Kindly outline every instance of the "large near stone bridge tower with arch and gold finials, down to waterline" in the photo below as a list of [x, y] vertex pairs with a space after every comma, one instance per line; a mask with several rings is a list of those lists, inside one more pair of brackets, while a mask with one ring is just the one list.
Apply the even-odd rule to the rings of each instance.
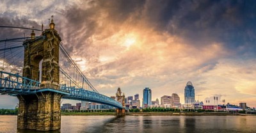
[[45, 91], [36, 95], [17, 96], [19, 98], [18, 129], [60, 129], [62, 95], [54, 90], [60, 90], [58, 63], [61, 38], [54, 26], [52, 19], [49, 29], [45, 29], [42, 36], [35, 38], [35, 33], [32, 31], [31, 39], [23, 43], [25, 48], [23, 77], [40, 81], [40, 89]]

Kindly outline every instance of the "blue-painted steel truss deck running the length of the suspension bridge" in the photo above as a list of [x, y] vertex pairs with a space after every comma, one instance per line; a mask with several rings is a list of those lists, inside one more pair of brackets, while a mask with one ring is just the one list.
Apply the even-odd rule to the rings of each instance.
[[72, 100], [86, 100], [106, 104], [118, 109], [122, 109], [122, 104], [110, 97], [97, 93], [95, 91], [84, 90], [83, 88], [60, 86], [60, 90], [51, 88], [40, 88], [40, 82], [22, 77], [18, 74], [10, 74], [0, 71], [0, 94], [1, 95], [31, 95], [42, 91], [52, 91], [63, 94], [63, 98]]

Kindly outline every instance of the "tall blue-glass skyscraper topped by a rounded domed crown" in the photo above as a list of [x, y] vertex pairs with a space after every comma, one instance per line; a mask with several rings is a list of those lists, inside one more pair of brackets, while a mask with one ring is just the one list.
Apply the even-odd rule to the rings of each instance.
[[193, 87], [192, 82], [188, 81], [184, 90], [184, 100], [185, 104], [194, 103], [195, 102], [195, 89]]

